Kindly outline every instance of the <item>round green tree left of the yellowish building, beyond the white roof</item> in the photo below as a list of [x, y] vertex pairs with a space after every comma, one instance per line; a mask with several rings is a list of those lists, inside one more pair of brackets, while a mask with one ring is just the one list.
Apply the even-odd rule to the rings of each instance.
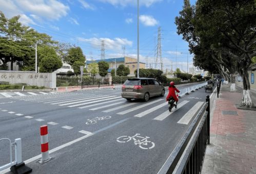
[[68, 51], [67, 56], [64, 57], [64, 61], [73, 65], [74, 62], [85, 62], [85, 56], [83, 55], [83, 51], [80, 47], [71, 47]]

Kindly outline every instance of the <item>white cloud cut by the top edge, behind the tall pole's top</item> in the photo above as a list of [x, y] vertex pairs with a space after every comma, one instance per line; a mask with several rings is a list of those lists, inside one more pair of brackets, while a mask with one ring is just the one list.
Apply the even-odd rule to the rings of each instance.
[[[113, 6], [122, 6], [126, 7], [128, 5], [136, 6], [137, 1], [134, 0], [98, 0], [103, 3], [109, 3]], [[149, 7], [154, 3], [161, 2], [163, 0], [140, 0], [140, 6], [146, 6]]]

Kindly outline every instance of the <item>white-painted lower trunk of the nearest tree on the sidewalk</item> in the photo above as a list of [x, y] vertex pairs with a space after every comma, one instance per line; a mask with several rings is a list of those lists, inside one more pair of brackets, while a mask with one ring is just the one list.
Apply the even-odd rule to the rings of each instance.
[[250, 82], [247, 70], [243, 72], [243, 100], [241, 105], [249, 108], [254, 107], [254, 104], [251, 101]]

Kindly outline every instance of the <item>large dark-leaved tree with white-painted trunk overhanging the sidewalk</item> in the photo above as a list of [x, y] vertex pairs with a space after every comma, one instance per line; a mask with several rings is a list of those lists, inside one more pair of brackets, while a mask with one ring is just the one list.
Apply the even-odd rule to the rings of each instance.
[[240, 73], [244, 88], [241, 105], [248, 107], [253, 107], [247, 70], [256, 56], [255, 6], [254, 0], [198, 0], [195, 6], [185, 0], [175, 18], [178, 34], [195, 55], [195, 65], [226, 77], [235, 70]]

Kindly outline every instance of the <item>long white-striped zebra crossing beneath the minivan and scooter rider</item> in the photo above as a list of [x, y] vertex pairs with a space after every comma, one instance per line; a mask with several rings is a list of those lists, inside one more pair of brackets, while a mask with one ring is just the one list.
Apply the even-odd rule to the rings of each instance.
[[[120, 95], [96, 94], [96, 93], [48, 93], [43, 95], [20, 95], [12, 97], [16, 100], [37, 102], [48, 105], [84, 109], [90, 111], [100, 111], [103, 113], [115, 113], [117, 115], [132, 114], [134, 117], [154, 116], [153, 120], [162, 121], [185, 107], [190, 101], [185, 100], [179, 103], [178, 108], [169, 112], [165, 98], [155, 98], [149, 102], [127, 102]], [[188, 125], [193, 115], [202, 107], [204, 102], [197, 102], [178, 123]], [[149, 108], [150, 107], [150, 108]], [[188, 109], [187, 109], [188, 110]], [[155, 112], [157, 111], [157, 112]], [[161, 111], [162, 113], [158, 112]], [[139, 112], [139, 113], [138, 113]], [[133, 114], [135, 113], [135, 114]]]

